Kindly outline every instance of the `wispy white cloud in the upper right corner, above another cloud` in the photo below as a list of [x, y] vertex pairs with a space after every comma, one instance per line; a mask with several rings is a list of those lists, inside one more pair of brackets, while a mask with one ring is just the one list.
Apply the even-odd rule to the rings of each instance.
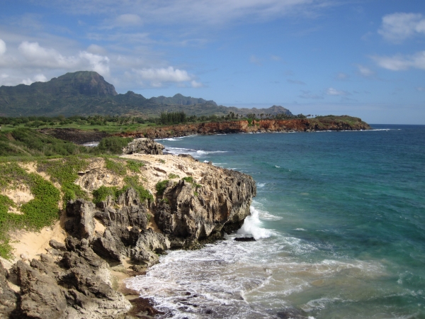
[[392, 13], [382, 18], [378, 33], [392, 43], [402, 43], [414, 35], [425, 35], [425, 18], [421, 13]]

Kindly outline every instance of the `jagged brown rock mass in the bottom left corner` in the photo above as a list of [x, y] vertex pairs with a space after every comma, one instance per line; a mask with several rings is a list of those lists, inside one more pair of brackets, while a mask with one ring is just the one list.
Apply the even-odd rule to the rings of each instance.
[[[101, 319], [130, 309], [129, 301], [111, 287], [108, 264], [87, 240], [69, 237], [67, 249], [59, 262], [41, 254], [29, 265], [22, 261], [13, 265], [11, 273], [21, 291], [16, 308], [1, 318]], [[0, 303], [7, 301], [14, 306], [11, 293]]]

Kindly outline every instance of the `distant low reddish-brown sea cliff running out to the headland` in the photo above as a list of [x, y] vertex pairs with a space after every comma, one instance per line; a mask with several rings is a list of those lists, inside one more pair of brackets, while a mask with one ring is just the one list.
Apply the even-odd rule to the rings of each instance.
[[145, 128], [134, 133], [118, 134], [147, 138], [172, 138], [187, 135], [212, 135], [222, 133], [273, 133], [273, 132], [314, 132], [319, 130], [368, 130], [370, 126], [360, 118], [349, 116], [293, 119], [293, 120], [253, 120], [225, 121], [212, 123], [188, 123], [162, 128]]

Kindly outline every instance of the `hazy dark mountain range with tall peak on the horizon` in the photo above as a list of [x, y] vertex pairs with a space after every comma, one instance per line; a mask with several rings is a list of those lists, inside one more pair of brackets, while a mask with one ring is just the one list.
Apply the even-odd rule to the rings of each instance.
[[128, 91], [118, 94], [112, 84], [90, 71], [67, 73], [48, 82], [0, 86], [0, 116], [134, 115], [159, 116], [161, 112], [184, 111], [188, 116], [290, 114], [282, 106], [235, 108], [217, 106], [215, 101], [176, 94], [146, 99]]

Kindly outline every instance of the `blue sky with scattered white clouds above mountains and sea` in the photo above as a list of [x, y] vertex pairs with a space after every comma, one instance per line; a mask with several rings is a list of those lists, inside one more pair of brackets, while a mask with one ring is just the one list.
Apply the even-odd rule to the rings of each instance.
[[118, 93], [425, 124], [424, 0], [1, 0], [0, 85], [96, 71]]

